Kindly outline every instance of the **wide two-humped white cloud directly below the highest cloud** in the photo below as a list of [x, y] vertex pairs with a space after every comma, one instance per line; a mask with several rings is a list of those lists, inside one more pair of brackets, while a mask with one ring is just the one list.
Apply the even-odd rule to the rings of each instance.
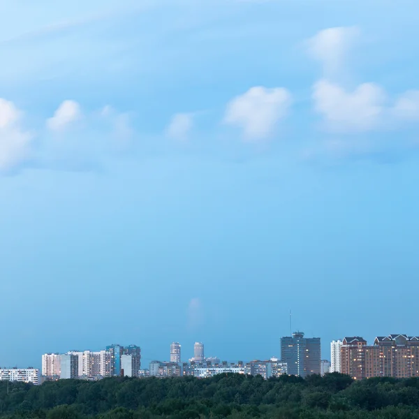
[[314, 108], [337, 131], [367, 131], [376, 128], [383, 115], [385, 92], [374, 83], [346, 91], [339, 84], [319, 80], [313, 89]]

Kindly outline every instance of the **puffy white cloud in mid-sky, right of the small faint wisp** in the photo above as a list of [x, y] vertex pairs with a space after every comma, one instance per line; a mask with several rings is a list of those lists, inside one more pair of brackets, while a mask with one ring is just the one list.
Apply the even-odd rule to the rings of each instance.
[[251, 87], [227, 105], [224, 122], [242, 128], [246, 140], [260, 140], [272, 134], [291, 104], [288, 90]]

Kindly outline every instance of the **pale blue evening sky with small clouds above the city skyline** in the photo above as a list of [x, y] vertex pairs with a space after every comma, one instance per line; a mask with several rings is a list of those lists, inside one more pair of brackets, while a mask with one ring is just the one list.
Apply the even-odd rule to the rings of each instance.
[[418, 335], [418, 13], [0, 0], [0, 365]]

